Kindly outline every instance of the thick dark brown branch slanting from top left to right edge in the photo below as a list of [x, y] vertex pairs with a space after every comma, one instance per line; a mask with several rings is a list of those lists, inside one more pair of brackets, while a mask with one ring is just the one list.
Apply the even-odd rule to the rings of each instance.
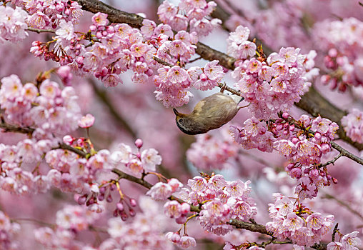
[[[126, 23], [134, 27], [142, 26], [142, 21], [144, 18], [138, 16], [136, 14], [127, 13], [125, 11], [120, 11], [111, 7], [107, 4], [104, 4], [100, 1], [96, 0], [76, 0], [82, 6], [82, 9], [85, 11], [90, 11], [92, 13], [103, 12], [109, 15], [109, 21], [113, 23]], [[227, 16], [227, 15], [224, 15]], [[222, 19], [222, 21], [225, 21]], [[224, 54], [220, 51], [212, 49], [211, 47], [198, 42], [197, 44], [197, 54], [202, 56], [203, 59], [213, 61], [219, 60], [219, 64], [224, 66], [227, 69], [234, 70], [234, 59], [227, 54]], [[228, 91], [228, 89], [227, 89]], [[237, 90], [235, 90], [237, 91]], [[296, 104], [300, 109], [307, 111], [312, 116], [323, 116], [327, 119], [335, 121], [339, 127], [342, 126], [340, 120], [344, 115], [347, 114], [347, 111], [343, 111], [333, 104], [331, 104], [327, 99], [325, 99], [322, 95], [320, 95], [313, 87], [309, 89], [309, 91], [302, 96], [302, 99], [299, 103]], [[349, 144], [352, 144], [359, 151], [363, 150], [363, 144], [359, 144], [357, 142], [349, 139], [347, 134], [343, 131], [343, 129], [339, 129], [338, 131], [339, 138], [347, 141]]]

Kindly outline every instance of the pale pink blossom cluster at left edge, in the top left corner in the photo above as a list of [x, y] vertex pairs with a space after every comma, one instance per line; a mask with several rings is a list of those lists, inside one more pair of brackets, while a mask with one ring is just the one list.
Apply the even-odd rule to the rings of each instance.
[[19, 7], [0, 6], [0, 43], [6, 41], [21, 41], [28, 36], [26, 19], [28, 14]]

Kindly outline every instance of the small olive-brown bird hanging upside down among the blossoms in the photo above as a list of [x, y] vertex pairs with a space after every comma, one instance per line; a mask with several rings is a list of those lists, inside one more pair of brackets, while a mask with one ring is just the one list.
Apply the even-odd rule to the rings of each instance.
[[204, 134], [218, 129], [236, 116], [242, 96], [229, 96], [223, 91], [200, 100], [191, 114], [179, 113], [175, 108], [176, 126], [185, 134]]

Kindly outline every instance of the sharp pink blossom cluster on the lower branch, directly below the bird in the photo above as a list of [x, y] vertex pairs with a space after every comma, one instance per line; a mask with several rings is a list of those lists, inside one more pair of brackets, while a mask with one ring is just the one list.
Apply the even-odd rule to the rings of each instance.
[[224, 235], [233, 229], [227, 224], [230, 219], [247, 221], [257, 214], [249, 183], [226, 181], [220, 174], [195, 176], [188, 181], [190, 189], [183, 188], [179, 195], [189, 204], [203, 204], [198, 219], [204, 230]]

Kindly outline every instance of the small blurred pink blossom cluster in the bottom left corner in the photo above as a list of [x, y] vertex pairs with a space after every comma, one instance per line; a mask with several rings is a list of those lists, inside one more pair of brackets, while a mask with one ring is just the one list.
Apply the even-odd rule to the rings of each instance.
[[0, 249], [19, 249], [18, 242], [14, 240], [14, 236], [19, 230], [20, 225], [11, 222], [9, 217], [3, 211], [0, 211]]

